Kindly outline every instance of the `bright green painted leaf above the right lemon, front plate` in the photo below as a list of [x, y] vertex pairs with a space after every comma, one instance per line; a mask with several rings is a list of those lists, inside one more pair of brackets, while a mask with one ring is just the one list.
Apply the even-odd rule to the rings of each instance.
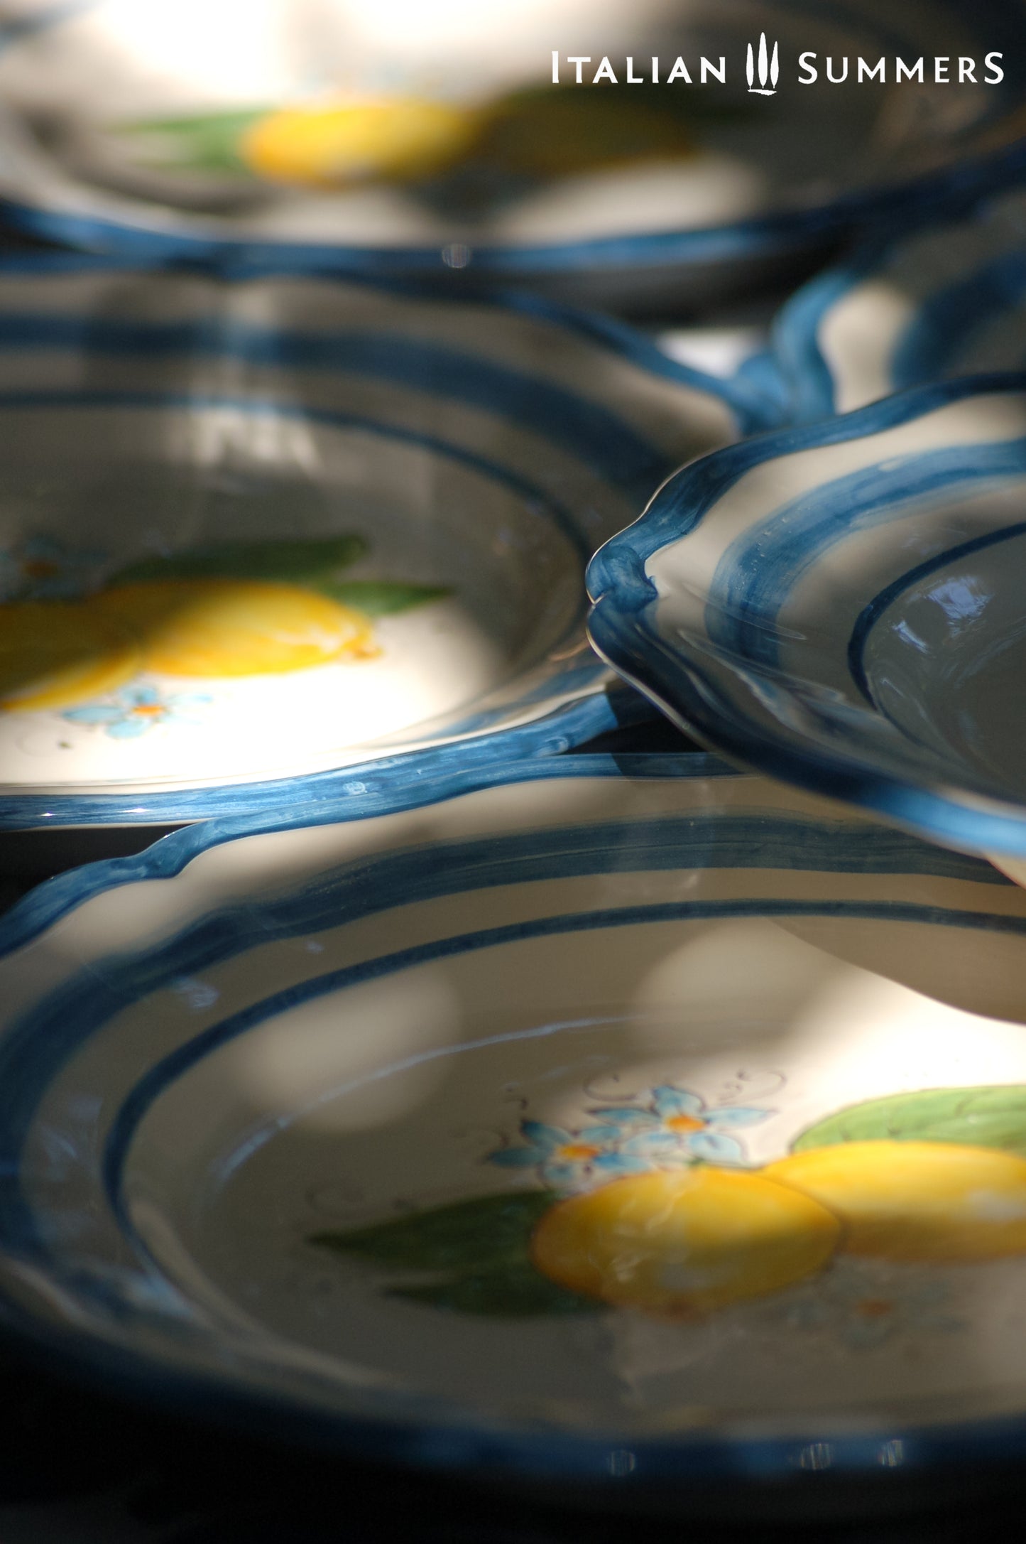
[[883, 1138], [964, 1143], [1026, 1156], [1026, 1085], [921, 1089], [867, 1099], [810, 1126], [791, 1143], [791, 1152]]

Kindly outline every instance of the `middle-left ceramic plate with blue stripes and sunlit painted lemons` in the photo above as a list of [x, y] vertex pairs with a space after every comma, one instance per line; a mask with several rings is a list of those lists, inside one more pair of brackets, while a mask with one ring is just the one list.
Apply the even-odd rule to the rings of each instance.
[[546, 303], [0, 273], [0, 823], [614, 727], [585, 560], [750, 397]]

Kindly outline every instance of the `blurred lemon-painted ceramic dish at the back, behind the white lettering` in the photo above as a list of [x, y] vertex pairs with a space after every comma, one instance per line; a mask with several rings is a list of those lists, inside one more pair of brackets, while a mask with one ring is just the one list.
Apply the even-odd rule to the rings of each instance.
[[[480, 19], [443, 0], [429, 29], [406, 3], [353, 0], [8, 11], [8, 218], [94, 250], [256, 245], [665, 315], [779, 281], [852, 224], [1021, 161], [1020, 0], [697, 0], [685, 15], [562, 0]], [[626, 56], [642, 69], [629, 90]], [[879, 56], [886, 82], [859, 82], [858, 59]], [[921, 56], [941, 79], [896, 83], [895, 60]], [[588, 91], [603, 57], [617, 86]], [[671, 80], [677, 57], [687, 79]], [[705, 88], [702, 57], [722, 74]], [[827, 59], [847, 79], [827, 82]], [[944, 79], [961, 59], [975, 85]]]

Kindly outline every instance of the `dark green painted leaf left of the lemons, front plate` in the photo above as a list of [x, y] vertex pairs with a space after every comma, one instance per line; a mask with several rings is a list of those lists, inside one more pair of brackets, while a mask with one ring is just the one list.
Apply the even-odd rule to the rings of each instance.
[[373, 1227], [315, 1234], [310, 1243], [386, 1271], [435, 1275], [386, 1288], [409, 1303], [505, 1319], [596, 1312], [602, 1305], [563, 1291], [531, 1265], [531, 1234], [554, 1200], [546, 1190], [484, 1195]]

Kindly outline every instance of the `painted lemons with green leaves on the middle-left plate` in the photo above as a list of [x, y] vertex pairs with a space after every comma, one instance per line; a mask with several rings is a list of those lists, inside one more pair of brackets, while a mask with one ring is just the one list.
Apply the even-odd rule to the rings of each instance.
[[[355, 536], [222, 542], [143, 559], [74, 599], [15, 594], [0, 604], [0, 709], [105, 723], [100, 709], [79, 709], [139, 676], [228, 679], [373, 659], [375, 618], [447, 591], [344, 576], [364, 553]], [[143, 715], [153, 689], [133, 693]], [[153, 724], [167, 716], [150, 713]]]

